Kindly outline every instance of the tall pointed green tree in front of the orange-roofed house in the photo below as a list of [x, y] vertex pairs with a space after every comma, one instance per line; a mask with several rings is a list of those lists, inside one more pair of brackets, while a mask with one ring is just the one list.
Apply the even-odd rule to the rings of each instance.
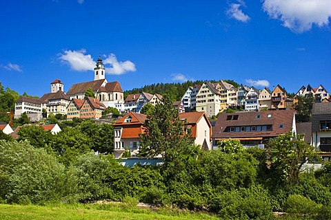
[[163, 97], [163, 104], [158, 103], [154, 111], [147, 115], [145, 132], [141, 134], [139, 156], [166, 157], [183, 138], [184, 122], [179, 119], [179, 112], [172, 106], [169, 96]]

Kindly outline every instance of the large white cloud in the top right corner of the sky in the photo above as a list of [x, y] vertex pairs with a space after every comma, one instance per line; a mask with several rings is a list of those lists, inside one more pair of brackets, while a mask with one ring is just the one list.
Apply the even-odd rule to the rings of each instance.
[[263, 10], [272, 19], [279, 19], [292, 32], [302, 33], [329, 24], [331, 0], [264, 0]]

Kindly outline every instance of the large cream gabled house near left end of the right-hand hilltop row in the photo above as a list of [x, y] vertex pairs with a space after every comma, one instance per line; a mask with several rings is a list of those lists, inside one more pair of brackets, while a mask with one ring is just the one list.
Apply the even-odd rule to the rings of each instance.
[[220, 97], [221, 93], [214, 87], [214, 84], [209, 82], [203, 83], [195, 97], [196, 110], [204, 111], [208, 115], [208, 117], [212, 117], [212, 115], [217, 115], [219, 111], [221, 111]]

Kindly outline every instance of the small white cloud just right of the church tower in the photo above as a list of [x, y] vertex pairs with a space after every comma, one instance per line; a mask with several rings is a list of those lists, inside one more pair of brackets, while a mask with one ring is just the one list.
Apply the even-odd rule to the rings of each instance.
[[115, 54], [110, 54], [106, 60], [103, 61], [104, 64], [110, 64], [111, 67], [106, 68], [106, 73], [120, 75], [126, 72], [137, 71], [136, 65], [131, 61], [117, 61]]

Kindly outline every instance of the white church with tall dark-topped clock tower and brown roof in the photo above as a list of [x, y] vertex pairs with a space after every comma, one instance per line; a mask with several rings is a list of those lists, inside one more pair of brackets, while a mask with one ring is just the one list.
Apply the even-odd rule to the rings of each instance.
[[86, 91], [91, 88], [97, 98], [106, 107], [114, 107], [122, 111], [123, 89], [118, 81], [108, 83], [105, 78], [105, 68], [102, 59], [99, 57], [96, 67], [94, 67], [94, 80], [86, 83], [72, 85], [67, 95], [72, 98], [84, 99]]

